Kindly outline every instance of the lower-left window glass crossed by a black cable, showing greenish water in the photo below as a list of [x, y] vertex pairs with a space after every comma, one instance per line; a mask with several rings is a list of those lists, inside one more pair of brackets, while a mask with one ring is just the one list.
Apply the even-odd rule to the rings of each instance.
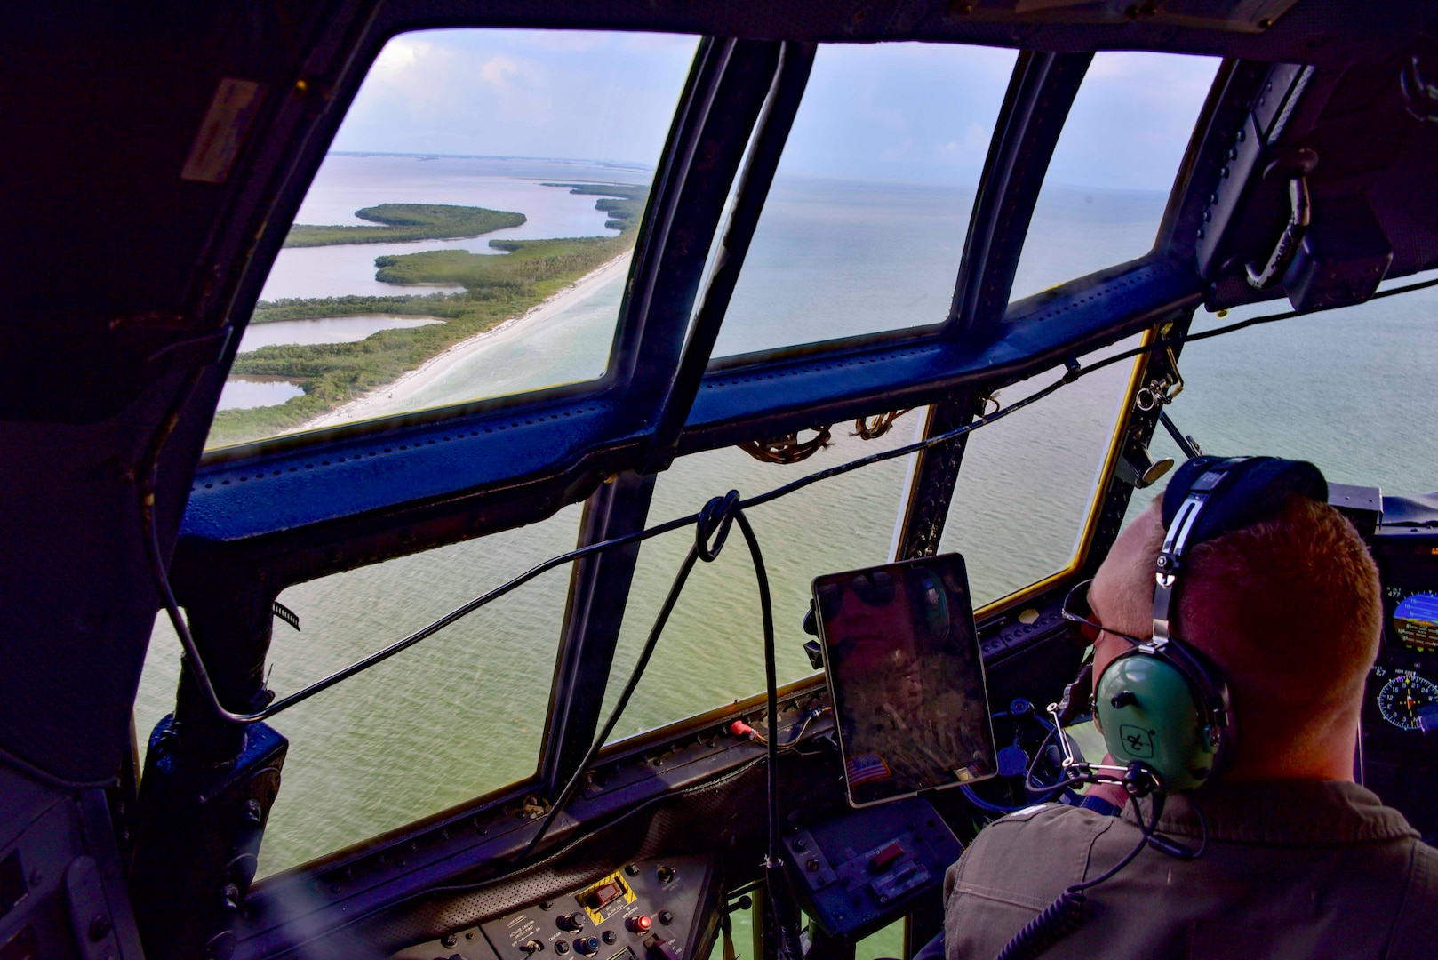
[[[285, 590], [269, 685], [293, 692], [572, 550], [578, 505], [549, 520]], [[533, 774], [568, 567], [269, 721], [289, 737], [260, 874], [272, 874]], [[174, 710], [180, 642], [161, 615], [135, 702], [141, 741]]]

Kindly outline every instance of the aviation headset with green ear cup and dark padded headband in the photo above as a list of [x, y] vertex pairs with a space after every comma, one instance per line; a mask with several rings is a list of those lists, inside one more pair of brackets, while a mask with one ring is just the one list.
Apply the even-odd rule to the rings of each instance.
[[1093, 704], [1109, 753], [1158, 789], [1201, 787], [1232, 761], [1238, 741], [1222, 671], [1171, 630], [1185, 558], [1198, 544], [1277, 512], [1288, 494], [1327, 502], [1327, 481], [1306, 461], [1196, 456], [1163, 494], [1152, 636], [1104, 668]]

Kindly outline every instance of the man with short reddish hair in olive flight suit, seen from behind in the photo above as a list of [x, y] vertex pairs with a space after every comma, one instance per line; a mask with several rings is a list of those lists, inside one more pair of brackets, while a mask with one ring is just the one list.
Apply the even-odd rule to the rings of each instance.
[[[1159, 502], [1119, 535], [1089, 589], [1094, 678], [1153, 633]], [[1288, 494], [1198, 544], [1176, 599], [1172, 635], [1222, 671], [1238, 731], [1228, 769], [1168, 796], [1158, 822], [1171, 852], [1202, 853], [1142, 848], [1084, 891], [1081, 921], [1041, 956], [1435, 956], [1438, 851], [1353, 782], [1382, 629], [1378, 570], [1357, 533], [1327, 504]], [[1044, 805], [985, 828], [945, 881], [948, 960], [992, 960], [1066, 888], [1119, 864], [1152, 803], [1120, 816]]]

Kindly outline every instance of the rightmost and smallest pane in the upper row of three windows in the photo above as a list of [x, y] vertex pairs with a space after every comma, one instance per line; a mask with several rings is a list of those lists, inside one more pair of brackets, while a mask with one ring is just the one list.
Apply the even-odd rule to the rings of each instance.
[[1014, 299], [1143, 256], [1219, 60], [1096, 53], [1058, 135]]

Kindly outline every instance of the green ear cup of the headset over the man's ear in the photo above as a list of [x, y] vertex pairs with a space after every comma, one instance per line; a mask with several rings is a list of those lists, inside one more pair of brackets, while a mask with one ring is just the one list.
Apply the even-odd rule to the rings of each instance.
[[1114, 658], [1094, 687], [1094, 714], [1114, 760], [1143, 763], [1166, 790], [1192, 790], [1214, 770], [1206, 715], [1182, 671], [1160, 656]]

